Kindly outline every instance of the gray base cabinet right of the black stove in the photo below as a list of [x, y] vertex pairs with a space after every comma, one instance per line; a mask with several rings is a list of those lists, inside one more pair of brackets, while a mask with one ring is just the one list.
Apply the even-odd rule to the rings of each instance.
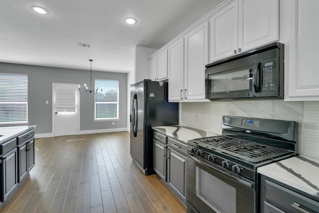
[[261, 176], [261, 213], [319, 213], [318, 200], [276, 180]]

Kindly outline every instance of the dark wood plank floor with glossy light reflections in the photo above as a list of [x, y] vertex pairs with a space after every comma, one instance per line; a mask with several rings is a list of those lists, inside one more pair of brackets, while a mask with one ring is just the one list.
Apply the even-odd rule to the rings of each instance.
[[35, 139], [35, 166], [1, 213], [185, 213], [130, 156], [128, 132]]

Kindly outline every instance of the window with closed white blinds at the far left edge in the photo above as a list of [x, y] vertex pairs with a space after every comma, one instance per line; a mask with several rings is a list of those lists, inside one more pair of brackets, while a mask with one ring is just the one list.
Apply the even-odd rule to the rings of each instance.
[[0, 124], [28, 121], [28, 76], [0, 73]]

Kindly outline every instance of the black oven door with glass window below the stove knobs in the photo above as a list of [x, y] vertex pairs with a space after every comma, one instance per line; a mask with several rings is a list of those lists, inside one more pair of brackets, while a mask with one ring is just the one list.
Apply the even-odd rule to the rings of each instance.
[[187, 202], [199, 213], [256, 212], [256, 183], [187, 154]]

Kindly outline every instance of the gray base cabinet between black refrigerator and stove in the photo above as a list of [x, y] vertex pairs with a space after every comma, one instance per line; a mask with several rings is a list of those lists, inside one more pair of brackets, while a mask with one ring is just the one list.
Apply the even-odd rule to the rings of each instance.
[[154, 131], [153, 169], [186, 204], [187, 145]]

